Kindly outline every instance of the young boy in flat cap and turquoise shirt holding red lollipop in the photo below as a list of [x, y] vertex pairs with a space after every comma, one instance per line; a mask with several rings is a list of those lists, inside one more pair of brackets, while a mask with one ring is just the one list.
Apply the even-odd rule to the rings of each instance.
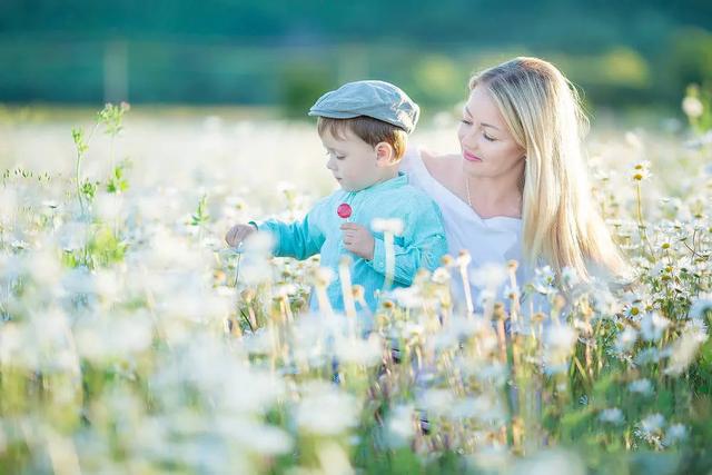
[[[396, 287], [409, 286], [419, 268], [437, 268], [447, 251], [437, 205], [398, 172], [418, 113], [405, 92], [383, 81], [349, 82], [322, 96], [309, 116], [318, 117], [319, 137], [328, 154], [326, 167], [342, 189], [319, 200], [300, 222], [270, 219], [237, 225], [226, 241], [237, 246], [258, 229], [268, 231], [276, 238], [275, 256], [306, 259], [320, 253], [320, 265], [335, 276], [342, 255], [350, 255], [352, 281], [364, 287], [365, 300], [374, 310], [375, 293], [383, 289], [387, 271], [384, 232], [372, 229], [374, 219], [397, 218], [404, 225], [394, 239]], [[335, 310], [344, 309], [338, 277], [327, 295]], [[315, 298], [312, 308], [316, 308]]]

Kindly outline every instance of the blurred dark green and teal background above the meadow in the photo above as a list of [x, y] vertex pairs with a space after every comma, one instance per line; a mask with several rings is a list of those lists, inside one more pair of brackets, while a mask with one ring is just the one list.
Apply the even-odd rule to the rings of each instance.
[[378, 78], [451, 108], [478, 68], [554, 61], [590, 107], [712, 82], [712, 1], [0, 0], [0, 102], [249, 105], [289, 117]]

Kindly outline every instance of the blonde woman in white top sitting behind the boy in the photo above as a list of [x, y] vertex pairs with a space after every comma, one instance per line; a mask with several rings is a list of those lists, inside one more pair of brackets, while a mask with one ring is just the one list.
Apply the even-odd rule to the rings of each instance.
[[515, 58], [469, 80], [459, 154], [408, 150], [403, 168], [438, 202], [449, 253], [467, 249], [471, 269], [515, 259], [520, 285], [541, 265], [621, 278], [626, 264], [591, 199], [586, 126], [553, 65]]

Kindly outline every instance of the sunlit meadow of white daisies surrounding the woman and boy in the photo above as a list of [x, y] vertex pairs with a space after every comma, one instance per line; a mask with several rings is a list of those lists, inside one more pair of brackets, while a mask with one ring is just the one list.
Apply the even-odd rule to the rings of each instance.
[[[459, 255], [358, 317], [307, 311], [333, 278], [318, 259], [222, 240], [334, 189], [312, 125], [0, 109], [0, 472], [709, 473], [701, 96], [686, 123], [586, 144], [634, 283], [544, 268], [520, 288], [508, 263], [465, 276], [473, 313], [451, 297]], [[455, 128], [441, 113], [412, 140], [454, 150]]]

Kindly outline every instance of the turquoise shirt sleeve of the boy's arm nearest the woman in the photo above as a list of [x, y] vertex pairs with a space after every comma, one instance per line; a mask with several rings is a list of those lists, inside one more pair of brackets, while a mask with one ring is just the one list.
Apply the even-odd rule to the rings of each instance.
[[[412, 212], [404, 224], [403, 246], [393, 245], [395, 255], [394, 281], [409, 286], [421, 268], [435, 270], [447, 254], [447, 240], [443, 217], [437, 206], [428, 201]], [[368, 264], [379, 274], [386, 275], [386, 244], [375, 238], [374, 258]]]

